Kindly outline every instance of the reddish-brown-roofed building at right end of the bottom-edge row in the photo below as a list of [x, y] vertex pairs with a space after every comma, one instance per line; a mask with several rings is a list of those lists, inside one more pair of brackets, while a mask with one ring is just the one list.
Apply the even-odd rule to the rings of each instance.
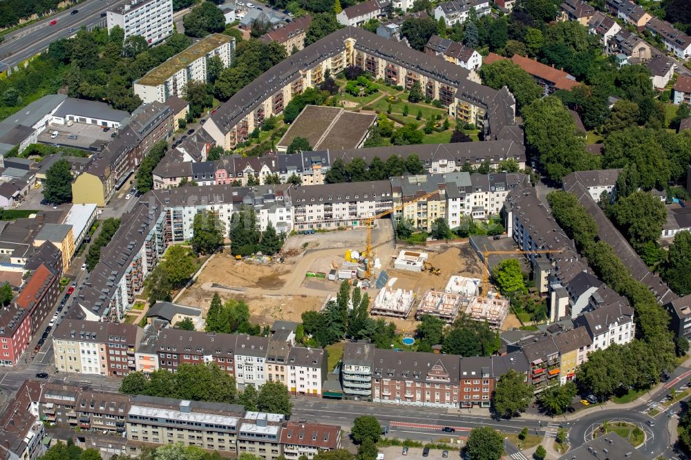
[[312, 459], [319, 452], [341, 448], [341, 429], [334, 425], [289, 421], [281, 430], [281, 445], [287, 460], [297, 460], [303, 455]]

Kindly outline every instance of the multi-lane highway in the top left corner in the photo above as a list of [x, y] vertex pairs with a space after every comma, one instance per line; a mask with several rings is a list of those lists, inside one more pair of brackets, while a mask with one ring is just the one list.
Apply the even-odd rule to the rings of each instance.
[[[41, 19], [31, 26], [8, 33], [0, 44], [0, 71], [14, 68], [21, 61], [38, 55], [46, 50], [52, 41], [75, 35], [79, 28], [105, 27], [106, 18], [101, 17], [101, 13], [122, 3], [127, 1], [88, 0], [57, 15]], [[73, 15], [73, 10], [78, 12]], [[51, 26], [52, 21], [57, 22]]]

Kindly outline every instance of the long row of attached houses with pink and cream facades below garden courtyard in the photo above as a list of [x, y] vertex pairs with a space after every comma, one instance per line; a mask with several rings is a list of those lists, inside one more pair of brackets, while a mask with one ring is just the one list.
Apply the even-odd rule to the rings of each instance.
[[[213, 168], [216, 185], [245, 186], [250, 177], [259, 184], [265, 184], [269, 176], [278, 175], [285, 183], [296, 175], [301, 185], [323, 185], [326, 173], [332, 162], [340, 159], [350, 162], [361, 158], [370, 164], [375, 157], [386, 162], [392, 155], [399, 155], [406, 160], [410, 155], [417, 155], [428, 173], [446, 173], [460, 171], [464, 168], [481, 166], [484, 162], [497, 169], [505, 160], [515, 160], [519, 169], [525, 167], [525, 150], [520, 142], [514, 140], [488, 140], [485, 142], [467, 142], [456, 144], [419, 144], [413, 146], [387, 146], [373, 148], [347, 148], [343, 150], [326, 149], [324, 151], [299, 152], [292, 155], [285, 153], [267, 154], [261, 157], [243, 157], [225, 155], [215, 162], [206, 162], [202, 169]], [[178, 161], [178, 157], [166, 157], [153, 170], [153, 188], [171, 189], [179, 186], [182, 180], [199, 181], [193, 177], [193, 162]], [[200, 178], [199, 178], [200, 179]], [[208, 182], [205, 182], [205, 184]]]

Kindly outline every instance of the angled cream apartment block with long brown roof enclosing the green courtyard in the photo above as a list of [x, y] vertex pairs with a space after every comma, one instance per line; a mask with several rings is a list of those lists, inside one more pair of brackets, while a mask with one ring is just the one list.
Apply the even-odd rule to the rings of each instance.
[[[489, 8], [489, 3], [485, 4]], [[233, 148], [247, 140], [263, 119], [279, 115], [295, 94], [319, 84], [326, 70], [334, 74], [346, 66], [359, 66], [377, 79], [406, 88], [419, 82], [426, 96], [439, 99], [453, 116], [456, 99], [462, 100], [474, 107], [468, 108], [473, 117], [468, 114], [464, 119], [484, 126], [486, 131], [493, 126], [496, 135], [502, 127], [515, 125], [515, 102], [510, 102], [510, 93], [472, 82], [468, 70], [442, 59], [428, 59], [401, 42], [347, 27], [296, 52], [238, 91], [209, 117], [203, 131], [217, 145]], [[281, 104], [274, 104], [276, 98]], [[500, 109], [500, 116], [495, 109]]]

